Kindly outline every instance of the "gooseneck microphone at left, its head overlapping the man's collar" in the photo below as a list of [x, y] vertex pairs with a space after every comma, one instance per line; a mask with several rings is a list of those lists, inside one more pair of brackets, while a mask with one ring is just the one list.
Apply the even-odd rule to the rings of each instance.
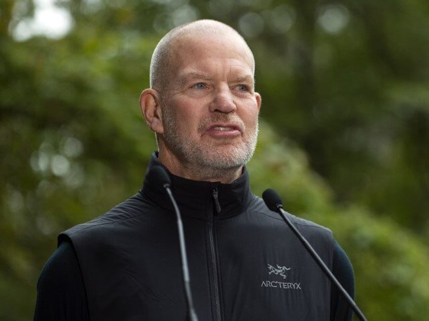
[[153, 167], [148, 173], [148, 175], [150, 175], [149, 178], [152, 179], [153, 182], [156, 182], [155, 186], [162, 186], [162, 188], [167, 192], [171, 200], [171, 203], [173, 203], [173, 206], [176, 212], [176, 218], [177, 218], [177, 229], [179, 231], [180, 255], [182, 258], [183, 283], [185, 286], [186, 303], [188, 305], [188, 312], [189, 312], [189, 317], [191, 321], [198, 321], [197, 314], [195, 313], [195, 309], [194, 309], [194, 302], [192, 300], [191, 280], [189, 277], [189, 265], [188, 265], [187, 255], [186, 255], [185, 233], [183, 231], [183, 224], [182, 224], [182, 218], [180, 215], [179, 206], [177, 205], [176, 199], [174, 198], [173, 193], [171, 192], [171, 189], [170, 189], [170, 186], [171, 186], [170, 177], [168, 176], [167, 172], [162, 166]]

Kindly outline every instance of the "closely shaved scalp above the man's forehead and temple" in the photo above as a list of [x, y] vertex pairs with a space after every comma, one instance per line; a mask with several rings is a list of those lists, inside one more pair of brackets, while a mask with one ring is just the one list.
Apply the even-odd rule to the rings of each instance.
[[158, 42], [150, 64], [150, 87], [162, 92], [168, 85], [169, 78], [175, 74], [175, 58], [182, 42], [187, 39], [208, 41], [225, 35], [232, 36], [236, 41], [242, 42], [243, 50], [247, 51], [245, 54], [249, 58], [249, 64], [254, 73], [253, 54], [246, 41], [235, 29], [216, 20], [197, 20], [172, 29]]

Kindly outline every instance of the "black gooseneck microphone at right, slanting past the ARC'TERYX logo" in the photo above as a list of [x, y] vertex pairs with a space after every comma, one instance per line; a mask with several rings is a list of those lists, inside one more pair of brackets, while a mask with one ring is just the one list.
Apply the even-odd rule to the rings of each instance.
[[334, 283], [336, 287], [339, 289], [339, 291], [341, 292], [341, 294], [344, 295], [344, 297], [352, 307], [353, 311], [359, 317], [359, 319], [361, 321], [367, 321], [362, 311], [356, 305], [355, 301], [353, 301], [349, 293], [347, 293], [347, 291], [338, 282], [338, 280], [335, 278], [335, 276], [332, 274], [332, 272], [329, 270], [329, 268], [326, 266], [326, 264], [323, 262], [320, 256], [316, 253], [314, 248], [307, 241], [307, 239], [301, 233], [299, 233], [299, 231], [292, 224], [292, 222], [290, 222], [289, 218], [287, 217], [287, 214], [289, 213], [283, 209], [282, 201], [280, 199], [280, 196], [276, 193], [276, 191], [271, 188], [266, 189], [264, 193], [262, 193], [262, 199], [264, 200], [265, 204], [269, 209], [271, 209], [272, 211], [278, 212], [280, 214], [283, 221], [286, 222], [286, 224], [289, 226], [292, 232], [298, 237], [299, 241], [301, 241], [301, 243], [304, 245], [304, 247], [309, 252], [309, 254], [313, 257], [316, 263], [320, 266], [320, 268], [322, 269], [324, 274], [328, 277], [328, 279], [331, 281], [331, 283]]

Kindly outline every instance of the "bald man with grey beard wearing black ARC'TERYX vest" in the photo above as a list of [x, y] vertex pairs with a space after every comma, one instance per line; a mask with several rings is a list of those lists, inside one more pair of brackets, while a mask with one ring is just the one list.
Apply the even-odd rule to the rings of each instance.
[[[279, 216], [249, 189], [261, 96], [231, 27], [173, 29], [152, 56], [140, 105], [182, 212], [199, 320], [350, 320], [346, 301]], [[351, 295], [329, 230], [291, 217]], [[176, 219], [150, 175], [104, 216], [69, 229], [42, 271], [35, 320], [186, 320]]]

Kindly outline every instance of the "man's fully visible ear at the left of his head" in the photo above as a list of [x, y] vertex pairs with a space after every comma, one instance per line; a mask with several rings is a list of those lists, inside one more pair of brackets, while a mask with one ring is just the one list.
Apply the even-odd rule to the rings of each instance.
[[158, 134], [164, 133], [159, 94], [155, 89], [145, 89], [140, 95], [140, 110], [148, 127]]

